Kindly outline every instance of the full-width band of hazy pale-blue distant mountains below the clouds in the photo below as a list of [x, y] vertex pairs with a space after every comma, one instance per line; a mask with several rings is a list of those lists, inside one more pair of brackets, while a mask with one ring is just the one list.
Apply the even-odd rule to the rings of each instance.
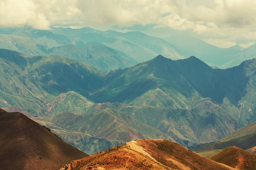
[[139, 31], [120, 33], [90, 27], [38, 30], [29, 26], [0, 28], [0, 34], [0, 48], [26, 55], [54, 54], [69, 57], [106, 72], [128, 68], [153, 59], [158, 54], [171, 59], [195, 56], [218, 68], [237, 66], [246, 59], [253, 59], [256, 54], [255, 45], [248, 48], [239, 45], [220, 48], [186, 34], [161, 39]]

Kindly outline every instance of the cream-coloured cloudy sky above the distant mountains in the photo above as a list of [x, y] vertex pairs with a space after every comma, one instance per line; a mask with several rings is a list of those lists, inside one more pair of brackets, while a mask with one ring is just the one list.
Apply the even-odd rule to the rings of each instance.
[[221, 47], [256, 42], [256, 0], [1, 0], [0, 27], [184, 33]]

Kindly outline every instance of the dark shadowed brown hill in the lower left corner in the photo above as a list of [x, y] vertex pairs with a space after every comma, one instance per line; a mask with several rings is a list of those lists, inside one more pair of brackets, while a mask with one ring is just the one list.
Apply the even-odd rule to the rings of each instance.
[[56, 170], [88, 155], [22, 113], [0, 109], [0, 169]]

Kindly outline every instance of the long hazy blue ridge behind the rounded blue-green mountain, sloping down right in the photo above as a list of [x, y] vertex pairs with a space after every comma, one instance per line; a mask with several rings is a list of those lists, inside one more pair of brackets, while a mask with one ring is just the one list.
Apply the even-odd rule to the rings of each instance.
[[63, 34], [75, 41], [94, 41], [124, 52], [137, 62], [153, 59], [158, 54], [168, 58], [182, 59], [180, 52], [168, 42], [151, 37], [141, 32], [120, 33], [116, 31], [99, 31], [92, 28], [52, 28], [55, 34]]

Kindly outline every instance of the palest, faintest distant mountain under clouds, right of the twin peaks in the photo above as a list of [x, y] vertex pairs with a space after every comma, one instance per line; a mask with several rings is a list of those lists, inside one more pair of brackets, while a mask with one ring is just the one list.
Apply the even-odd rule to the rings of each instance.
[[[183, 56], [196, 56], [207, 64], [219, 68], [237, 66], [245, 60], [237, 56], [237, 54], [243, 54], [246, 49], [240, 45], [234, 45], [230, 48], [221, 48], [186, 34], [172, 35], [165, 37], [164, 40], [178, 49]], [[237, 62], [233, 62], [234, 59]]]

